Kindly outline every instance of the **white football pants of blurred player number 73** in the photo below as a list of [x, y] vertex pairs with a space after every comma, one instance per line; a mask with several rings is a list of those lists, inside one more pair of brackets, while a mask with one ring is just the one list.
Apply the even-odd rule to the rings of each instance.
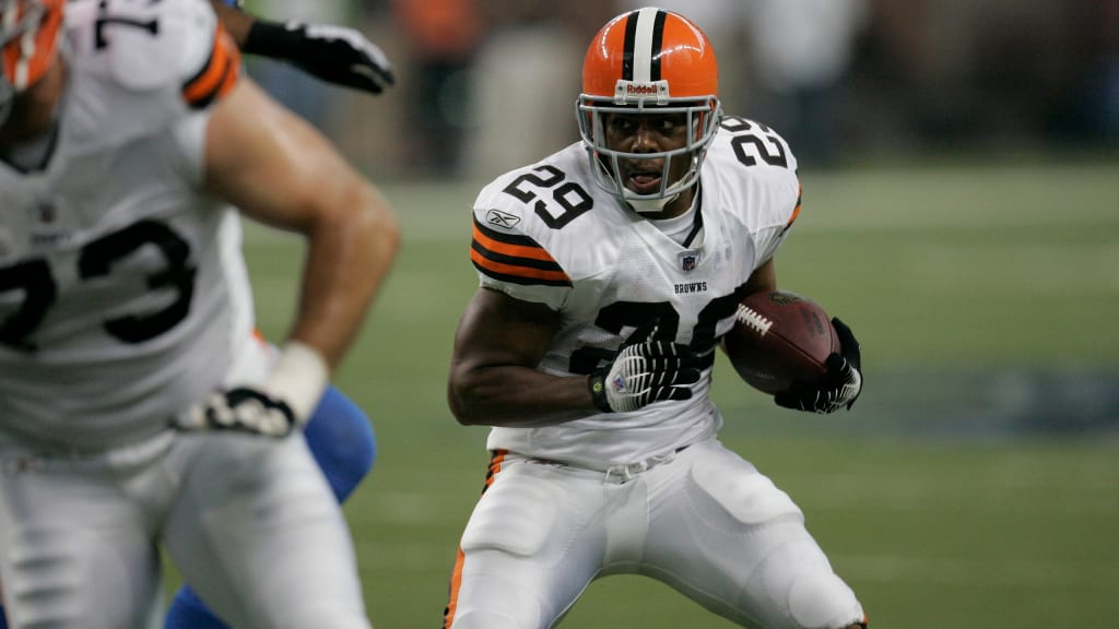
[[369, 627], [346, 522], [301, 432], [163, 432], [88, 456], [0, 432], [0, 466], [13, 628], [144, 627], [158, 543], [237, 629]]

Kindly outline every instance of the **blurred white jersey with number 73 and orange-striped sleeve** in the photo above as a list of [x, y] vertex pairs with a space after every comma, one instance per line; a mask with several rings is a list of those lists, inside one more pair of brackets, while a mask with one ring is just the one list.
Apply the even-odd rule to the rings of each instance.
[[199, 0], [77, 1], [39, 169], [0, 161], [0, 422], [93, 449], [164, 426], [251, 342], [236, 212], [201, 190], [241, 62]]

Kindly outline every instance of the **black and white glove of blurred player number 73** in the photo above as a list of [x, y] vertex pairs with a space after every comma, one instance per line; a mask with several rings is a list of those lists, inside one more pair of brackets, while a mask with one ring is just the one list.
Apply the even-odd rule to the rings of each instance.
[[172, 426], [184, 431], [232, 430], [282, 438], [295, 426], [286, 402], [255, 388], [237, 387], [210, 394], [205, 404], [177, 416]]

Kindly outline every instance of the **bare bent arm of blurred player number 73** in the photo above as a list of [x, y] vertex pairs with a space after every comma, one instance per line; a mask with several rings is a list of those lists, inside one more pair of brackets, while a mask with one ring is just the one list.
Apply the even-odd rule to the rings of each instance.
[[380, 194], [312, 126], [242, 79], [206, 131], [206, 186], [262, 223], [308, 237], [290, 339], [342, 358], [395, 256]]

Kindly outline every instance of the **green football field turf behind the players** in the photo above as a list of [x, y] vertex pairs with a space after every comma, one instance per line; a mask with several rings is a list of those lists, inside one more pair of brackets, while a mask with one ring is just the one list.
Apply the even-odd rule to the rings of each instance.
[[[803, 508], [876, 629], [1113, 627], [1119, 165], [853, 170], [803, 186], [779, 281], [853, 327], [866, 388], [849, 413], [809, 416], [721, 360], [724, 441]], [[486, 472], [486, 431], [459, 426], [444, 402], [477, 283], [476, 190], [384, 186], [402, 255], [336, 378], [378, 438], [346, 506], [378, 628], [439, 626]], [[298, 241], [251, 228], [246, 250], [261, 327], [280, 338]], [[1085, 413], [1103, 428], [1078, 430]], [[1018, 416], [1068, 430], [1016, 430]], [[613, 576], [561, 626], [731, 625], [656, 582]]]

